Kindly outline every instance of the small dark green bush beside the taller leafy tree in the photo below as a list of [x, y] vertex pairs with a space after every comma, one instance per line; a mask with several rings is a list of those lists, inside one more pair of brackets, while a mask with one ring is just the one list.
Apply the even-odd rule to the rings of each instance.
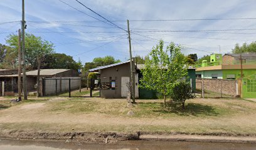
[[187, 99], [195, 98], [195, 94], [193, 94], [191, 91], [190, 84], [186, 83], [185, 81], [181, 81], [180, 83], [176, 84], [170, 96], [173, 101], [181, 103], [183, 109], [185, 109], [185, 101]]

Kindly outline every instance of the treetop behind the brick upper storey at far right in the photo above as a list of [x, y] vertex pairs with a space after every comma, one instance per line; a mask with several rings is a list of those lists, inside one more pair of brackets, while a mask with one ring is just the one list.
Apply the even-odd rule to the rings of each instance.
[[239, 44], [235, 44], [234, 49], [232, 49], [233, 54], [241, 54], [241, 53], [256, 53], [256, 41], [247, 44], [246, 42], [243, 43], [242, 46], [239, 46]]

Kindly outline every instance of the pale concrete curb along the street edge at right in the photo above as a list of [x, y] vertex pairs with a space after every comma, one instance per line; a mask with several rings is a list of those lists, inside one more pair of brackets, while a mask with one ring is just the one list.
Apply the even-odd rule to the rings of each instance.
[[146, 141], [187, 141], [210, 143], [256, 143], [256, 137], [250, 136], [199, 136], [199, 135], [154, 135], [145, 134], [139, 137]]

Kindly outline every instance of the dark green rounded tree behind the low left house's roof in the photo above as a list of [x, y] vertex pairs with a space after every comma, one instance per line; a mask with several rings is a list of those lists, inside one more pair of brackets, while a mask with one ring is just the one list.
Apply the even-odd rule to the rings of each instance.
[[45, 58], [45, 69], [74, 69], [78, 71], [81, 68], [80, 63], [75, 62], [72, 56], [67, 54], [49, 54]]

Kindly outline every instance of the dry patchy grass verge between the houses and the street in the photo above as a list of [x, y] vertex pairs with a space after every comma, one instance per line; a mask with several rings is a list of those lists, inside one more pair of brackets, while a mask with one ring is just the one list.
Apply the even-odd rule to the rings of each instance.
[[[186, 110], [162, 100], [40, 98], [0, 101], [0, 131], [232, 134], [256, 136], [256, 103], [243, 99], [186, 101]], [[127, 116], [128, 111], [134, 116]], [[17, 113], [18, 112], [18, 113]]]

